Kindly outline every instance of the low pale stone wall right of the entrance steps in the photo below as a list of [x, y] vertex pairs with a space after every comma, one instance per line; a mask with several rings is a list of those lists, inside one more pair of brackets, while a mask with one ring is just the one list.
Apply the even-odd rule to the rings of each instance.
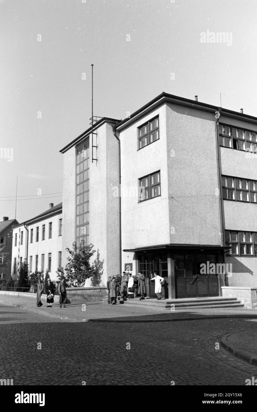
[[248, 286], [222, 286], [223, 297], [237, 297], [248, 309], [257, 309], [257, 288]]

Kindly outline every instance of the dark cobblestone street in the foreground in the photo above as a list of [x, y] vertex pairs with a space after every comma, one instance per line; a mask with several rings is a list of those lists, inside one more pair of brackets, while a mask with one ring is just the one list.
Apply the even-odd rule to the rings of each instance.
[[227, 333], [256, 328], [240, 318], [72, 322], [1, 304], [0, 378], [14, 385], [244, 386], [257, 368], [215, 345]]

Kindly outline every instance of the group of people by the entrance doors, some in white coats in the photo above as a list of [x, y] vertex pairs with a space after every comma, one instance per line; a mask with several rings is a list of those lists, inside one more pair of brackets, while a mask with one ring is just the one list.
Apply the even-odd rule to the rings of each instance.
[[[161, 282], [164, 280], [157, 273], [151, 273], [150, 281], [155, 281], [154, 292], [157, 295], [157, 300], [163, 299], [161, 296]], [[134, 279], [131, 273], [127, 274], [126, 272], [122, 273], [121, 276], [121, 297], [126, 297], [128, 299], [133, 299], [134, 297]], [[145, 275], [141, 272], [138, 272], [138, 295], [141, 295], [140, 300], [144, 300], [146, 296], [146, 286], [145, 286]], [[117, 283], [115, 282], [115, 276], [109, 276], [107, 281], [107, 302], [110, 304], [117, 303]]]

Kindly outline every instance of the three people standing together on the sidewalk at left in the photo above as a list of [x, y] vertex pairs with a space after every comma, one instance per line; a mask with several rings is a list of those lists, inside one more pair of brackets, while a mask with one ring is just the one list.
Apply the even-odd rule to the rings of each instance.
[[[52, 303], [54, 303], [54, 283], [51, 281], [51, 279], [49, 278], [49, 280], [47, 281], [47, 303], [48, 306], [47, 307], [52, 307]], [[37, 283], [37, 307], [42, 306], [42, 302], [41, 302], [41, 295], [44, 292], [44, 282], [42, 281], [42, 279], [40, 279]], [[61, 278], [61, 281], [58, 284], [58, 292], [59, 292], [59, 304], [60, 304], [60, 308], [63, 307], [65, 308], [65, 303], [67, 300], [67, 293], [66, 293], [66, 285], [65, 285], [65, 277], [63, 276]]]

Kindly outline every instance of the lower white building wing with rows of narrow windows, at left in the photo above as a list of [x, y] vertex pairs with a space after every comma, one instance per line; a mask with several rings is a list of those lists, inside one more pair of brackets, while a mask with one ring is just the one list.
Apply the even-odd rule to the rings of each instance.
[[13, 229], [12, 277], [16, 280], [24, 260], [29, 272], [46, 269], [51, 280], [57, 280], [56, 270], [62, 266], [62, 204], [54, 206]]

